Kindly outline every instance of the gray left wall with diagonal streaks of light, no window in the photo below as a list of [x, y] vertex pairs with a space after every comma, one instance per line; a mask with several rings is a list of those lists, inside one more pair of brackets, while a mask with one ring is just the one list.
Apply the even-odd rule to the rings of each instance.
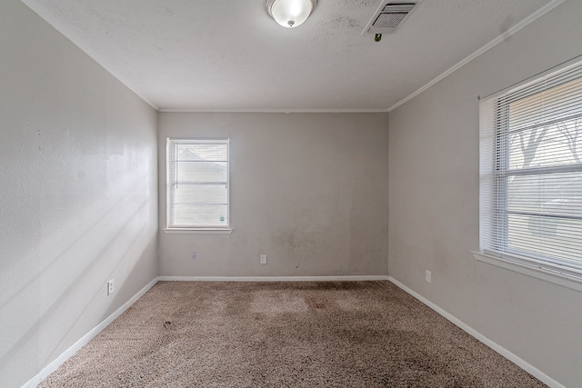
[[156, 277], [156, 111], [19, 1], [0, 2], [0, 53], [0, 386], [16, 387]]

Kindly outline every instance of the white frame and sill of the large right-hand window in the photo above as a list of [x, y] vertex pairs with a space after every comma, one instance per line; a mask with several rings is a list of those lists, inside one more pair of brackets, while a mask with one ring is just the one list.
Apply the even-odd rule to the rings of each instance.
[[[582, 291], [582, 264], [572, 263], [570, 261], [561, 260], [559, 257], [552, 257], [551, 255], [532, 254], [521, 252], [518, 249], [511, 249], [508, 247], [508, 215], [518, 214], [514, 210], [507, 209], [508, 200], [508, 182], [509, 176], [546, 176], [546, 174], [554, 173], [569, 173], [580, 172], [579, 164], [565, 164], [550, 167], [527, 167], [524, 169], [509, 168], [508, 158], [510, 151], [499, 152], [500, 144], [505, 144], [507, 147], [510, 142], [509, 136], [509, 117], [508, 112], [503, 110], [510, 102], [519, 101], [538, 92], [532, 90], [527, 95], [520, 95], [514, 98], [513, 93], [523, 90], [530, 85], [542, 85], [547, 78], [552, 79], [554, 75], [561, 75], [572, 69], [582, 69], [582, 62], [580, 58], [575, 58], [564, 65], [557, 66], [548, 70], [547, 72], [537, 75], [535, 78], [530, 78], [518, 85], [512, 85], [507, 89], [497, 92], [494, 95], [489, 95], [486, 98], [479, 98], [481, 100], [479, 109], [480, 119], [480, 236], [479, 236], [479, 252], [473, 252], [475, 258], [479, 262], [493, 264], [503, 267], [521, 274], [527, 274], [546, 280], [550, 283], [567, 286], [578, 291]], [[582, 75], [578, 75], [575, 79], [582, 79]], [[553, 84], [551, 87], [559, 84]], [[491, 124], [495, 123], [495, 124]], [[537, 124], [539, 126], [547, 125], [548, 123]], [[486, 133], [484, 127], [489, 126]], [[491, 133], [492, 130], [492, 133]], [[505, 139], [501, 138], [505, 136]], [[488, 160], [487, 160], [488, 158]], [[505, 166], [500, 168], [501, 165]], [[484, 205], [484, 198], [487, 195], [492, 196], [488, 199], [489, 207]], [[486, 202], [487, 202], [486, 201]], [[495, 203], [495, 205], [493, 204]], [[494, 212], [493, 208], [502, 209], [501, 212]], [[530, 215], [536, 212], [531, 212]], [[494, 215], [495, 214], [495, 215]], [[527, 215], [527, 214], [525, 214]], [[540, 216], [542, 214], [537, 214]], [[578, 219], [578, 218], [577, 218]], [[486, 226], [485, 224], [488, 225]], [[487, 235], [489, 234], [489, 235]], [[503, 252], [497, 251], [494, 248], [492, 241], [500, 236], [501, 243], [505, 244]]]

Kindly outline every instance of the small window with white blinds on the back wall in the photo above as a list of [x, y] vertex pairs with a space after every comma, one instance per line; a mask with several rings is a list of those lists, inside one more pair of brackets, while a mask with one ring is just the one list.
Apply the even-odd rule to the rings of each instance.
[[167, 139], [167, 228], [228, 229], [228, 140]]

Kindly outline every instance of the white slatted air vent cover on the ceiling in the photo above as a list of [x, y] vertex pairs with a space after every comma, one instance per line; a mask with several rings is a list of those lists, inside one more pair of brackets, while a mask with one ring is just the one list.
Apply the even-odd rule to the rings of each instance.
[[383, 0], [362, 34], [390, 34], [396, 32], [420, 1], [394, 2]]

